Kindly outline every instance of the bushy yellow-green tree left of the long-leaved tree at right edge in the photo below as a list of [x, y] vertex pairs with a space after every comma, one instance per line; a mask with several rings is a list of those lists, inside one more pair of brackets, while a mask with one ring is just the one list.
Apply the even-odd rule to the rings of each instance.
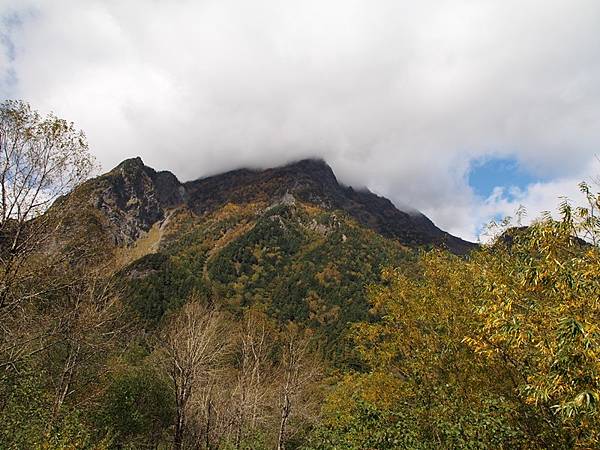
[[[366, 370], [346, 373], [309, 448], [510, 448], [518, 429], [501, 366], [463, 342], [474, 273], [447, 252], [388, 269], [352, 338]], [[494, 377], [491, 378], [490, 374]]]

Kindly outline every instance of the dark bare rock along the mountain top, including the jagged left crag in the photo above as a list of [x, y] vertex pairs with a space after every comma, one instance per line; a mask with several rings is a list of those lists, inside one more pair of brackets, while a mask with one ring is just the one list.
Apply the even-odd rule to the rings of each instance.
[[293, 196], [325, 209], [341, 209], [361, 225], [407, 246], [441, 245], [457, 254], [475, 246], [440, 230], [423, 214], [400, 211], [368, 190], [340, 185], [322, 160], [266, 170], [239, 169], [180, 183], [172, 173], [156, 172], [133, 158], [91, 183], [97, 184], [94, 206], [114, 225], [117, 243], [135, 240], [163, 220], [167, 209], [186, 206], [203, 215], [227, 203], [271, 204]]

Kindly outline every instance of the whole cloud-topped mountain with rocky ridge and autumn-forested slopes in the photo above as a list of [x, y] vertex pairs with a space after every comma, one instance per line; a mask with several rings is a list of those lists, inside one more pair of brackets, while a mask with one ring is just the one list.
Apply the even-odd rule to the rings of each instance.
[[321, 160], [182, 183], [133, 158], [72, 197], [71, 224], [84, 230], [72, 234], [112, 253], [148, 327], [197, 292], [232, 311], [261, 305], [279, 321], [303, 322], [337, 353], [348, 323], [367, 317], [366, 286], [384, 267], [419, 248], [475, 246], [341, 185]]

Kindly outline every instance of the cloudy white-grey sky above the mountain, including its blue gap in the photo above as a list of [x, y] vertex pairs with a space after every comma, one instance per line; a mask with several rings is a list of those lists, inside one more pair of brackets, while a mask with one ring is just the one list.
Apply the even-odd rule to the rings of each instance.
[[477, 240], [600, 174], [598, 0], [0, 0], [0, 98], [105, 170], [321, 157]]

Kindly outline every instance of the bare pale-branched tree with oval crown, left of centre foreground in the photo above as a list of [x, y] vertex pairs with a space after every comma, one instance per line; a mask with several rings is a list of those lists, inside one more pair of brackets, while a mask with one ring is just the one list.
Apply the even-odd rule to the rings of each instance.
[[190, 400], [219, 367], [228, 345], [223, 314], [197, 298], [191, 298], [165, 327], [160, 347], [175, 395], [174, 449], [183, 448]]

